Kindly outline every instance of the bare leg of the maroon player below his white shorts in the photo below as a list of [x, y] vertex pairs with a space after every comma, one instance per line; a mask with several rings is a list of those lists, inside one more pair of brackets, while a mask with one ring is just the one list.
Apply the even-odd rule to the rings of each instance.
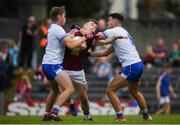
[[92, 120], [91, 115], [89, 113], [89, 99], [88, 99], [88, 86], [87, 84], [74, 84], [75, 90], [78, 92], [81, 108], [84, 114], [84, 120], [89, 121]]

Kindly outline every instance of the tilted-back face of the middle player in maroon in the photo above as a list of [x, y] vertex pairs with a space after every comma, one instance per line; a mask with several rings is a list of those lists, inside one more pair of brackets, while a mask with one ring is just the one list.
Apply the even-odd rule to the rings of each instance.
[[95, 24], [93, 21], [89, 21], [86, 24], [84, 24], [83, 28], [88, 32], [95, 32], [97, 28], [97, 24]]

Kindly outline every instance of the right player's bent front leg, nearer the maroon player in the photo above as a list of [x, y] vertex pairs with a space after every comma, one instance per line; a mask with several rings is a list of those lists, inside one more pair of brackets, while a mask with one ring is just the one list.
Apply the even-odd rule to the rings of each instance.
[[127, 87], [128, 83], [127, 81], [121, 76], [121, 75], [116, 75], [108, 85], [106, 89], [106, 93], [109, 97], [109, 100], [116, 111], [117, 119], [120, 121], [126, 121], [123, 113], [122, 113], [122, 107], [121, 103], [119, 100], [118, 95], [116, 94], [116, 91], [120, 88]]

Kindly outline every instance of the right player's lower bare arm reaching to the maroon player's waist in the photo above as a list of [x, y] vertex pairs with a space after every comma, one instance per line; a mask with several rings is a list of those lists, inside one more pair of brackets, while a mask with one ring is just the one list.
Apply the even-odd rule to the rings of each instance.
[[103, 56], [108, 56], [114, 51], [113, 47], [110, 46], [107, 50], [105, 51], [100, 51], [100, 52], [90, 52], [89, 55], [91, 57], [103, 57]]

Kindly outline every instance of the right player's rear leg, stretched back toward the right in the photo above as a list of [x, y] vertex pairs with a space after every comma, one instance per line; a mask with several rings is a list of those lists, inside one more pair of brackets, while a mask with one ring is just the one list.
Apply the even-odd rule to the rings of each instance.
[[136, 83], [129, 83], [129, 85], [128, 85], [129, 92], [136, 99], [136, 101], [143, 113], [143, 119], [144, 120], [152, 120], [152, 117], [148, 113], [144, 96], [139, 91], [139, 87], [140, 87], [140, 81], [136, 82]]

